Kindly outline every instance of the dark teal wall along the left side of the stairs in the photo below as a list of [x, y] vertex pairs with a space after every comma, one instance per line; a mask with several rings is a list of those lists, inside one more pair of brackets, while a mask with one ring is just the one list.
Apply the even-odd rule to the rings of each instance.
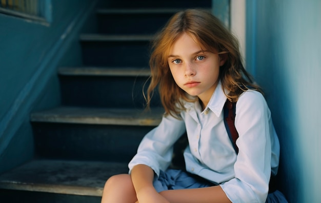
[[49, 1], [48, 25], [0, 13], [0, 173], [33, 157], [29, 114], [60, 104], [56, 69], [81, 64], [77, 34], [92, 29], [95, 2]]

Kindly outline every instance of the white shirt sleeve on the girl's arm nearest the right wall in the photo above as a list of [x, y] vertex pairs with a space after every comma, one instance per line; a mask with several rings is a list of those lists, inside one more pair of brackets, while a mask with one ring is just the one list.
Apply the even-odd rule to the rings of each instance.
[[[262, 94], [248, 91], [239, 98], [235, 127], [239, 134], [235, 177], [221, 187], [232, 202], [265, 202], [271, 163], [278, 164], [279, 145], [270, 110]], [[272, 154], [276, 160], [271, 160]]]

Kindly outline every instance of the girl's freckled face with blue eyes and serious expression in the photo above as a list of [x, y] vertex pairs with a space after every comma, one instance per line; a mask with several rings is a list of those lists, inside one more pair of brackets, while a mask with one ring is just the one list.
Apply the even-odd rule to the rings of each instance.
[[218, 54], [202, 48], [183, 33], [169, 51], [168, 64], [178, 87], [198, 96], [206, 106], [216, 89], [219, 67], [224, 65], [226, 57], [221, 59]]

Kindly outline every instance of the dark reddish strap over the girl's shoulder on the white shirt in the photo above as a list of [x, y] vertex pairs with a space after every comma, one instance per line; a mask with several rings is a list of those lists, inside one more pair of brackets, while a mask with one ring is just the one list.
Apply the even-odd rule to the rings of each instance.
[[227, 134], [229, 135], [231, 143], [237, 154], [238, 148], [236, 146], [236, 139], [238, 138], [238, 133], [234, 125], [235, 109], [236, 109], [236, 103], [232, 103], [229, 99], [226, 99], [226, 103], [224, 105], [224, 124], [225, 124]]

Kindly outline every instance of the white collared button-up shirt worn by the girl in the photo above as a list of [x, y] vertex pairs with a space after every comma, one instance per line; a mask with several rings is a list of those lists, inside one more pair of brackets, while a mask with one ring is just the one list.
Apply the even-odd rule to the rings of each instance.
[[142, 140], [129, 169], [151, 167], [158, 176], [172, 159], [173, 144], [185, 131], [189, 146], [184, 152], [186, 170], [208, 179], [224, 190], [232, 202], [265, 202], [271, 172], [276, 174], [279, 142], [263, 95], [248, 90], [236, 103], [238, 132], [236, 155], [223, 120], [227, 97], [220, 83], [203, 112], [199, 103], [185, 103], [181, 120], [163, 116], [161, 123]]

